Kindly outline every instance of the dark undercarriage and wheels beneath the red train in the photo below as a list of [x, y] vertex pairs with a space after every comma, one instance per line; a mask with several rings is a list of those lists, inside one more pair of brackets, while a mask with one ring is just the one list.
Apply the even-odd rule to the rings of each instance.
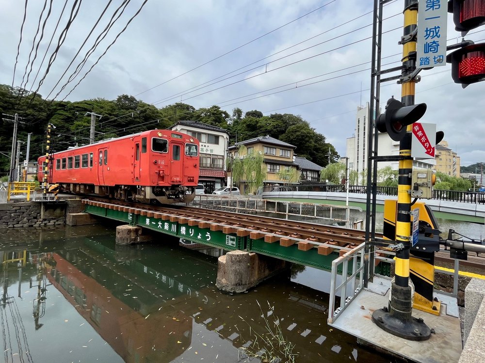
[[195, 187], [183, 185], [143, 186], [143, 185], [94, 185], [59, 183], [61, 192], [110, 197], [116, 200], [150, 204], [190, 203], [195, 197]]

